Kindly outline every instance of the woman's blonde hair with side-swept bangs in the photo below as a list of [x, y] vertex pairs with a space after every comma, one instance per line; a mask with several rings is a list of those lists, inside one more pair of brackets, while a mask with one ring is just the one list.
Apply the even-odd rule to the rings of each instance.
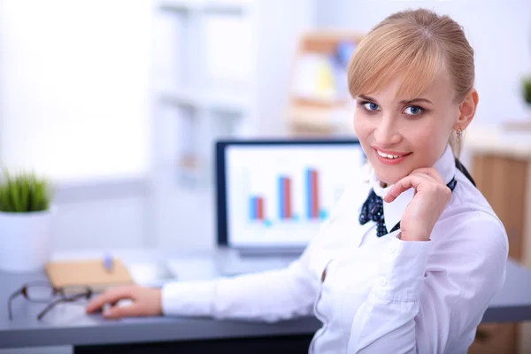
[[[350, 95], [377, 92], [401, 73], [398, 96], [414, 98], [443, 70], [450, 76], [454, 98], [462, 101], [474, 82], [473, 48], [463, 27], [426, 9], [396, 12], [358, 44], [348, 70]], [[461, 142], [455, 132], [450, 145], [458, 157]]]

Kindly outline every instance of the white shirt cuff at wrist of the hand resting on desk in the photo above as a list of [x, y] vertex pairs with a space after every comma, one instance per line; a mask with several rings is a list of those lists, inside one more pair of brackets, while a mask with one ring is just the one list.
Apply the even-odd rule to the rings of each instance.
[[216, 281], [177, 281], [162, 288], [162, 313], [173, 316], [212, 316]]

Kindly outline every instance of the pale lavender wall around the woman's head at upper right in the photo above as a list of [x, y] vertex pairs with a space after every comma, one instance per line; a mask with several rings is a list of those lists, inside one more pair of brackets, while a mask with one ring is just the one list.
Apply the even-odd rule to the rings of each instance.
[[531, 116], [519, 95], [522, 74], [531, 73], [529, 0], [320, 0], [319, 27], [368, 31], [381, 19], [407, 8], [427, 7], [465, 27], [475, 50], [480, 93], [475, 124]]

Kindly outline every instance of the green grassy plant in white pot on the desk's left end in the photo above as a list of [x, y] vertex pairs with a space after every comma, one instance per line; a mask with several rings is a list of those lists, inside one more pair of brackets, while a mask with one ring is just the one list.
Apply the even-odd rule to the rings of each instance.
[[7, 169], [0, 178], [0, 271], [41, 271], [51, 253], [50, 182]]

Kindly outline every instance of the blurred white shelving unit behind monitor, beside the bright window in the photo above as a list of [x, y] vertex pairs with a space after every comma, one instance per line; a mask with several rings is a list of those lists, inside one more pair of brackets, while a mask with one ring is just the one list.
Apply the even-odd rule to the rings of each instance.
[[[164, 157], [157, 165], [173, 174], [176, 183], [201, 187], [212, 182], [213, 142], [221, 136], [242, 135], [242, 124], [256, 117], [250, 75], [257, 51], [251, 40], [255, 2], [164, 0], [159, 10], [173, 21], [177, 58], [170, 63], [173, 74], [158, 89], [158, 104], [170, 111], [167, 114], [173, 118], [168, 119], [178, 121], [158, 126], [160, 131], [175, 131], [173, 142], [159, 145], [171, 151], [156, 153]], [[237, 35], [235, 41], [219, 45], [223, 31]], [[223, 63], [219, 65], [216, 58]], [[239, 64], [236, 70], [227, 67], [231, 61]]]

